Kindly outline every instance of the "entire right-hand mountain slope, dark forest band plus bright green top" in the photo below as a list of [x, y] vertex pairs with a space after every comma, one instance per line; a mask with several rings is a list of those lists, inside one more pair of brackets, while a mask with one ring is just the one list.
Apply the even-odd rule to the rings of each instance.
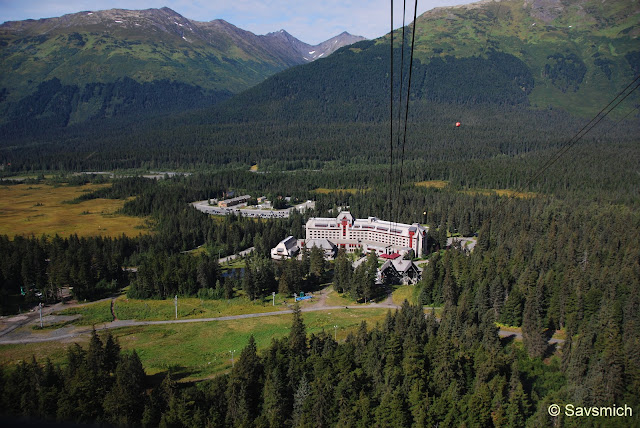
[[[427, 12], [417, 20], [412, 97], [594, 114], [640, 73], [639, 5], [637, 0], [508, 0]], [[397, 62], [401, 37], [396, 31]], [[387, 35], [360, 42], [325, 61], [280, 73], [230, 100], [220, 114], [224, 120], [265, 114], [383, 118], [389, 40]], [[241, 108], [247, 105], [252, 109]]]

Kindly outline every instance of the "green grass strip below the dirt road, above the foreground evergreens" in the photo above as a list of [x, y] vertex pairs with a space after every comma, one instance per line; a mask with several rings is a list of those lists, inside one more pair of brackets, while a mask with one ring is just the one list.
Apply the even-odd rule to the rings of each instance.
[[[337, 333], [340, 341], [349, 332], [355, 332], [362, 321], [373, 327], [384, 319], [386, 313], [386, 309], [339, 309], [303, 313], [303, 318], [308, 334], [324, 330], [332, 335]], [[111, 332], [123, 350], [136, 350], [147, 374], [171, 370], [179, 378], [194, 380], [228, 370], [231, 367], [229, 351], [235, 350], [235, 358], [238, 358], [252, 334], [259, 352], [269, 346], [272, 338], [288, 335], [291, 319], [291, 314], [282, 314], [229, 321], [124, 327]], [[338, 327], [334, 329], [336, 325]], [[104, 332], [99, 334], [104, 335]], [[88, 339], [85, 335], [74, 339], [74, 342], [86, 347]], [[65, 364], [69, 345], [62, 342], [0, 345], [0, 365], [30, 361], [32, 356], [41, 363], [50, 358], [55, 364]]]

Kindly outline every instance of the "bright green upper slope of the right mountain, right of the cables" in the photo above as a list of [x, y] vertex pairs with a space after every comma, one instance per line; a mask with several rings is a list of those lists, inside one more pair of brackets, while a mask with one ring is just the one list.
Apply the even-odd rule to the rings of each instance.
[[533, 106], [592, 114], [640, 72], [639, 24], [637, 0], [480, 2], [422, 15], [417, 57], [510, 54], [535, 79]]

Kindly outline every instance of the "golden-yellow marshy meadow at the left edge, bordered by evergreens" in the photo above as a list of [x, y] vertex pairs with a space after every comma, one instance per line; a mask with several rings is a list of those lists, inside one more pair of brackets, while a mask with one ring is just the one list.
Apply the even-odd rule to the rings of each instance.
[[68, 203], [104, 187], [16, 184], [0, 186], [0, 234], [136, 236], [148, 233], [145, 219], [117, 214], [124, 200], [93, 199]]

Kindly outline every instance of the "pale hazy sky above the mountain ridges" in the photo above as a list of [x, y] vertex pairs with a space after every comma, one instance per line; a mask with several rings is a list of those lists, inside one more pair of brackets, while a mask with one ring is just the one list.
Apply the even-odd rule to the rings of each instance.
[[[422, 0], [418, 16], [438, 6], [471, 3], [471, 0]], [[407, 18], [413, 20], [414, 2], [407, 2]], [[0, 22], [62, 16], [102, 9], [169, 7], [195, 21], [224, 19], [255, 34], [280, 29], [309, 44], [321, 43], [343, 31], [368, 39], [389, 32], [389, 0], [0, 0]], [[402, 26], [400, 0], [394, 1], [394, 28]]]

